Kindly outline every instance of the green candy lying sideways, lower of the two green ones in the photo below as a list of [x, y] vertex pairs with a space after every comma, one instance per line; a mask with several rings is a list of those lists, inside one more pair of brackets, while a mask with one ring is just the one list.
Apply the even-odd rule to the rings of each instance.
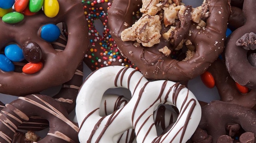
[[21, 22], [23, 19], [24, 15], [19, 12], [10, 12], [2, 17], [2, 21], [8, 24]]

